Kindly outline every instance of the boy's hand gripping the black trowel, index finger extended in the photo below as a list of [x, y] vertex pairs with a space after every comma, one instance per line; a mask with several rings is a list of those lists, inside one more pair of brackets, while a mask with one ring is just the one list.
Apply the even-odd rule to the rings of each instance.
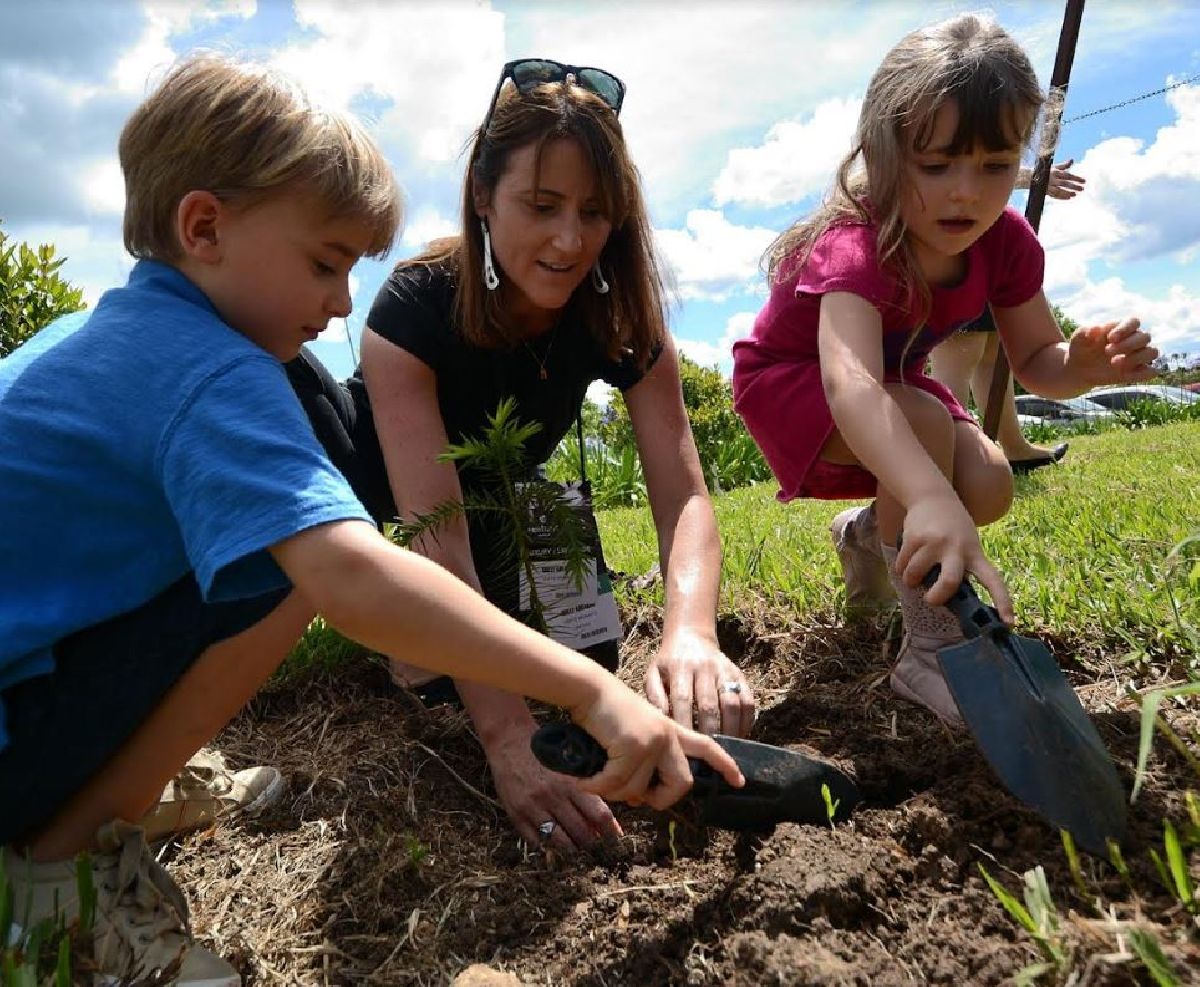
[[680, 726], [616, 678], [571, 718], [608, 752], [599, 774], [580, 788], [616, 802], [665, 809], [691, 789], [688, 758], [708, 761], [734, 788], [745, 784], [737, 762], [703, 734]]

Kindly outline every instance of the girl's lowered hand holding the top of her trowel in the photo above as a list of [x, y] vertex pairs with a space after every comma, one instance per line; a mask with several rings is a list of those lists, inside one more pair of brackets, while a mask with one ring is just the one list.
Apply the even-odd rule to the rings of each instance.
[[896, 556], [896, 573], [908, 586], [919, 586], [935, 564], [942, 567], [925, 602], [942, 606], [954, 596], [966, 573], [991, 594], [1004, 623], [1013, 623], [1013, 600], [996, 568], [983, 554], [979, 532], [958, 497], [931, 497], [913, 504], [904, 519], [904, 536]]

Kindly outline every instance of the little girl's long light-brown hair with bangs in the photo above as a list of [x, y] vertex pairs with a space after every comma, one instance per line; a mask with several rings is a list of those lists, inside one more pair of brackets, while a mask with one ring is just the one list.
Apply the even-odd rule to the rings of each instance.
[[914, 329], [919, 328], [931, 295], [906, 241], [900, 204], [906, 163], [913, 150], [929, 145], [937, 110], [952, 101], [959, 122], [949, 154], [968, 152], [976, 144], [989, 151], [1027, 148], [1044, 108], [1042, 144], [1054, 146], [1057, 114], [1046, 106], [1025, 52], [998, 24], [968, 13], [913, 31], [888, 52], [871, 77], [854, 146], [842, 158], [826, 201], [767, 249], [769, 280], [794, 274], [829, 227], [874, 223], [880, 265], [893, 270], [906, 295], [916, 299]]

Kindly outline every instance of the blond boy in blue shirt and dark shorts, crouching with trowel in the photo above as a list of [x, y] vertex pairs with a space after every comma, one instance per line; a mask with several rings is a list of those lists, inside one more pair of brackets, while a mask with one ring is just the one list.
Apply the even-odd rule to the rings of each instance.
[[352, 267], [400, 223], [365, 132], [200, 56], [134, 112], [120, 158], [128, 283], [0, 360], [0, 844], [18, 923], [55, 898], [70, 911], [71, 860], [91, 848], [100, 973], [240, 982], [191, 945], [182, 895], [121, 820], [316, 612], [569, 707], [608, 748], [582, 783], [598, 795], [670, 804], [686, 754], [738, 784], [713, 741], [391, 545], [313, 436], [282, 361], [349, 313]]

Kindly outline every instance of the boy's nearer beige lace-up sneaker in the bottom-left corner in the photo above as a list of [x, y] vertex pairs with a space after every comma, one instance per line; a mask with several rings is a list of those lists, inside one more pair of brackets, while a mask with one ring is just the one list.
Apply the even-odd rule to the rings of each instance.
[[[32, 863], [5, 848], [4, 862], [12, 887], [14, 943], [47, 917], [78, 920], [74, 861]], [[233, 967], [192, 944], [184, 893], [155, 861], [140, 829], [122, 820], [103, 826], [91, 866], [92, 982], [241, 987]]]

